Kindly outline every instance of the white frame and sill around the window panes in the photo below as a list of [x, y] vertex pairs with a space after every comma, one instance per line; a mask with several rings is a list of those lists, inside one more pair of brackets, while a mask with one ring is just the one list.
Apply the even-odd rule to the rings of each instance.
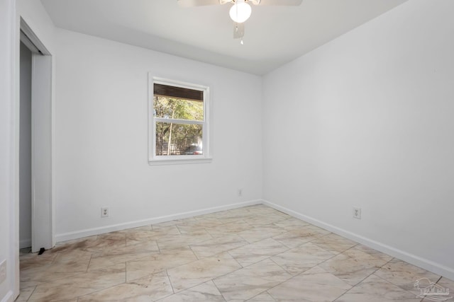
[[[153, 115], [154, 106], [153, 106], [153, 97], [154, 97], [154, 88], [153, 85], [163, 84], [167, 86], [175, 86], [181, 88], [188, 88], [197, 91], [202, 91], [204, 93], [204, 120], [203, 121], [193, 121], [193, 120], [172, 120], [164, 119], [160, 117], [155, 117]], [[148, 163], [150, 165], [168, 165], [168, 164], [178, 164], [178, 163], [210, 163], [211, 153], [210, 153], [210, 134], [209, 134], [209, 101], [210, 93], [208, 86], [202, 86], [193, 83], [186, 83], [182, 81], [175, 81], [170, 79], [163, 79], [153, 76], [151, 73], [148, 74]], [[157, 156], [156, 155], [156, 122], [175, 122], [179, 124], [201, 124], [202, 125], [202, 146], [203, 153], [201, 155], [170, 155], [170, 156]]]

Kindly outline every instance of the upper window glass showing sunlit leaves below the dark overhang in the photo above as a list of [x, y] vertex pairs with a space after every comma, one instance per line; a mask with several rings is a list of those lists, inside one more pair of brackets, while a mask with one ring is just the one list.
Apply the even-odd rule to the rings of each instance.
[[155, 96], [153, 98], [155, 117], [178, 120], [204, 120], [204, 102]]

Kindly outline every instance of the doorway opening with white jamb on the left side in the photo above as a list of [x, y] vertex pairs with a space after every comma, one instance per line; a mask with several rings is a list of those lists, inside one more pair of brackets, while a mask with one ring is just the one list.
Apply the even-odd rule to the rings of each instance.
[[52, 248], [52, 56], [21, 18], [19, 248]]

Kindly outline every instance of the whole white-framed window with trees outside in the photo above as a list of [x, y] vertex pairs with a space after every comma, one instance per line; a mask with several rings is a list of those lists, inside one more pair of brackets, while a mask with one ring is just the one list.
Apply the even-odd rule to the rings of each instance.
[[209, 88], [150, 76], [149, 162], [209, 161]]

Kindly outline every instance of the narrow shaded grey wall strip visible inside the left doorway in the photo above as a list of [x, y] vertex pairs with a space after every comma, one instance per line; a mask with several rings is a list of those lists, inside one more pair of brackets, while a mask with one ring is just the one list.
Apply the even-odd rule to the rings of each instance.
[[31, 247], [31, 51], [21, 43], [19, 247]]

